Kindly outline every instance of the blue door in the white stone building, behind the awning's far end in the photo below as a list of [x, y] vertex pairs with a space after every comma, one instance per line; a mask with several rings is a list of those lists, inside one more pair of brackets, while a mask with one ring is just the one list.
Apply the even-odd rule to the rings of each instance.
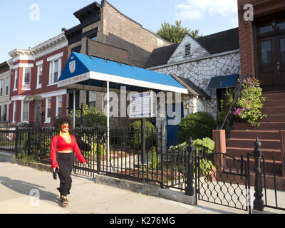
[[183, 110], [183, 103], [179, 104], [179, 107], [181, 109], [181, 118], [179, 118], [177, 115], [180, 113], [175, 110], [176, 104], [172, 105], [172, 110], [174, 112], [174, 115], [168, 116], [167, 115], [167, 148], [169, 148], [171, 145], [177, 145], [177, 132], [178, 132], [178, 125], [180, 124], [180, 121], [184, 117], [184, 110]]

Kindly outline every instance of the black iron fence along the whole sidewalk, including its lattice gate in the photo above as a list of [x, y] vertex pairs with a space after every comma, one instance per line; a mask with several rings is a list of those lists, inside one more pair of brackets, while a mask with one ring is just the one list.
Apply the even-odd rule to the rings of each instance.
[[[174, 188], [195, 196], [196, 204], [203, 200], [249, 212], [251, 207], [285, 210], [284, 158], [264, 160], [259, 140], [254, 152], [244, 152], [240, 157], [212, 152], [193, 145], [192, 140], [187, 147], [163, 152], [163, 132], [163, 128], [146, 129], [144, 140], [140, 129], [110, 128], [108, 151], [105, 127], [75, 128], [73, 135], [88, 166], [83, 167], [75, 157], [74, 172], [113, 175]], [[31, 156], [51, 164], [54, 135], [53, 128], [1, 128], [0, 149], [14, 151], [19, 158]]]

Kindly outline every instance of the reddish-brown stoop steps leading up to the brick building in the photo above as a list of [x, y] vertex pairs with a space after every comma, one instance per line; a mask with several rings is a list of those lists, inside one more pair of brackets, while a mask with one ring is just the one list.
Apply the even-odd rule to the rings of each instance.
[[[266, 172], [266, 185], [267, 187], [274, 187], [274, 170], [273, 163], [276, 166], [276, 185], [279, 186], [279, 190], [285, 190], [284, 186], [284, 151], [282, 151], [281, 132], [285, 130], [285, 91], [266, 92], [262, 93], [262, 96], [266, 97], [264, 102], [264, 108], [262, 113], [267, 114], [268, 117], [260, 121], [259, 128], [254, 128], [248, 123], [235, 122], [234, 130], [230, 133], [230, 138], [227, 141], [227, 153], [234, 157], [240, 157], [244, 155], [247, 157], [247, 152], [254, 151], [254, 142], [259, 138], [261, 142], [261, 150], [264, 156], [264, 162], [269, 165], [265, 165]], [[284, 149], [283, 149], [284, 150]], [[274, 157], [273, 157], [274, 155]], [[250, 157], [249, 170], [251, 180], [254, 180], [254, 157]], [[229, 162], [229, 167], [230, 162]], [[228, 167], [228, 168], [229, 168]], [[251, 184], [252, 185], [252, 184]]]

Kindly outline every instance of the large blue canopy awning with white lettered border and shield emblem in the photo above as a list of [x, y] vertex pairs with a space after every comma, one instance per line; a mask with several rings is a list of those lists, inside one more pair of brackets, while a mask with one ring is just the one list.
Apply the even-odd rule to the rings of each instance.
[[127, 86], [127, 90], [133, 91], [164, 90], [188, 94], [187, 88], [170, 75], [75, 52], [71, 53], [61, 73], [58, 87], [72, 88], [75, 84], [81, 85], [82, 89], [103, 87], [107, 81], [110, 88]]

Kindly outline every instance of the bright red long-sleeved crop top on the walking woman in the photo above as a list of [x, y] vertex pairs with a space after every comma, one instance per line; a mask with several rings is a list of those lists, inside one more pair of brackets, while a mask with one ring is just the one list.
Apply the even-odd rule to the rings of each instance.
[[53, 137], [53, 140], [51, 141], [51, 169], [58, 167], [58, 162], [56, 160], [57, 143], [58, 143], [58, 152], [73, 150], [76, 153], [76, 157], [78, 158], [78, 160], [80, 160], [82, 163], [86, 162], [83, 155], [81, 154], [81, 150], [78, 147], [74, 135], [71, 135], [71, 143], [67, 143], [66, 140], [64, 140], [61, 136], [56, 135]]

